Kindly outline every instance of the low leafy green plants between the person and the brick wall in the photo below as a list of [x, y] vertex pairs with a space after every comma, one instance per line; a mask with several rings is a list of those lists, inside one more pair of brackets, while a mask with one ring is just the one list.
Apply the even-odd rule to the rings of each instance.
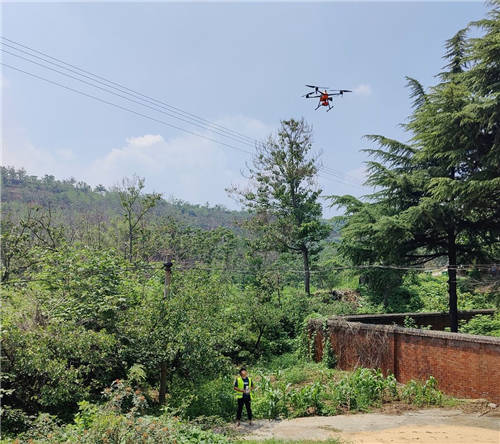
[[256, 416], [273, 419], [335, 415], [368, 411], [393, 400], [419, 406], [440, 405], [443, 400], [432, 377], [423, 385], [412, 382], [400, 388], [393, 375], [384, 377], [380, 370], [358, 368], [352, 373], [342, 373], [318, 364], [298, 368], [301, 375], [298, 378], [290, 376], [297, 371], [293, 367], [259, 376], [254, 401]]

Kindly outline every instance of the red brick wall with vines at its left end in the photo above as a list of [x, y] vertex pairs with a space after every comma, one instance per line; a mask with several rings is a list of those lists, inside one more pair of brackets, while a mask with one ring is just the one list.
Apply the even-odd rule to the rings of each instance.
[[500, 338], [331, 319], [312, 321], [316, 360], [326, 333], [343, 370], [381, 368], [400, 382], [434, 376], [444, 393], [500, 403]]

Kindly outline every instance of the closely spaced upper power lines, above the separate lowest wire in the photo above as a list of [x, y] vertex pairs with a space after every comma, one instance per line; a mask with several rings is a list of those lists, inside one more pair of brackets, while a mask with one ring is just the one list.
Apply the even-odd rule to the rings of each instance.
[[[44, 53], [44, 52], [42, 52], [42, 51], [36, 50], [36, 49], [34, 49], [34, 48], [30, 47], [30, 46], [23, 45], [23, 44], [21, 44], [21, 43], [19, 43], [19, 42], [16, 42], [16, 41], [14, 41], [14, 40], [8, 39], [8, 38], [3, 37], [3, 36], [0, 36], [0, 38], [2, 38], [3, 40], [8, 41], [8, 42], [10, 42], [10, 43], [13, 43], [14, 45], [20, 46], [21, 48], [28, 49], [28, 50], [29, 50], [29, 51], [31, 51], [31, 52], [34, 52], [34, 53], [37, 53], [37, 54], [41, 54], [41, 55], [43, 55], [44, 57], [47, 57], [47, 58], [49, 58], [49, 59], [51, 59], [51, 60], [55, 60], [55, 61], [57, 61], [57, 62], [59, 62], [59, 63], [62, 63], [63, 65], [70, 66], [71, 68], [74, 68], [75, 70], [80, 71], [80, 72], [82, 72], [82, 73], [88, 74], [88, 75], [90, 75], [90, 76], [94, 77], [95, 79], [99, 79], [99, 80], [102, 80], [102, 81], [104, 81], [104, 82], [107, 82], [107, 83], [109, 83], [110, 85], [106, 85], [106, 86], [108, 86], [108, 87], [110, 87], [110, 88], [113, 88], [113, 89], [119, 90], [119, 91], [121, 91], [121, 92], [123, 92], [123, 93], [129, 94], [129, 95], [132, 95], [132, 96], [135, 96], [136, 98], [142, 98], [142, 100], [145, 100], [145, 101], [153, 101], [153, 102], [155, 102], [156, 104], [161, 105], [161, 106], [163, 106], [163, 107], [166, 107], [166, 108], [168, 108], [168, 109], [170, 109], [170, 110], [172, 110], [172, 111], [174, 111], [174, 112], [176, 112], [176, 113], [178, 113], [178, 114], [180, 114], [180, 115], [184, 115], [184, 116], [190, 117], [190, 118], [192, 118], [192, 119], [196, 119], [196, 120], [198, 120], [199, 122], [204, 122], [206, 125], [210, 125], [210, 126], [213, 126], [213, 127], [219, 128], [220, 130], [223, 130], [223, 131], [226, 131], [226, 132], [229, 132], [229, 133], [233, 133], [234, 135], [238, 135], [238, 136], [240, 136], [241, 138], [246, 139], [247, 141], [250, 141], [250, 142], [252, 142], [252, 143], [257, 142], [257, 140], [256, 140], [256, 139], [253, 139], [253, 138], [251, 138], [251, 137], [249, 137], [249, 136], [247, 136], [247, 135], [245, 135], [245, 134], [242, 134], [242, 133], [240, 133], [240, 132], [238, 132], [238, 131], [235, 131], [235, 130], [232, 130], [232, 129], [227, 128], [227, 127], [225, 127], [225, 126], [222, 126], [222, 125], [220, 125], [220, 124], [217, 124], [217, 123], [211, 122], [211, 121], [209, 121], [209, 120], [207, 120], [207, 119], [204, 119], [203, 117], [197, 116], [196, 114], [193, 114], [193, 113], [190, 113], [190, 112], [184, 111], [184, 110], [183, 110], [183, 109], [181, 109], [181, 108], [178, 108], [178, 107], [172, 106], [172, 105], [170, 105], [170, 104], [168, 104], [168, 103], [166, 103], [166, 102], [164, 102], [164, 101], [161, 101], [161, 100], [155, 99], [154, 97], [150, 97], [150, 96], [147, 96], [147, 95], [145, 95], [145, 94], [142, 94], [142, 93], [140, 93], [140, 92], [138, 92], [138, 91], [136, 91], [136, 90], [133, 90], [133, 89], [131, 89], [131, 88], [128, 88], [128, 87], [126, 87], [126, 86], [124, 86], [124, 85], [122, 85], [122, 84], [120, 84], [120, 83], [118, 83], [118, 82], [114, 82], [114, 81], [112, 81], [112, 80], [107, 79], [106, 77], [103, 77], [103, 76], [100, 76], [100, 75], [94, 74], [94, 73], [92, 73], [91, 71], [87, 71], [87, 70], [82, 69], [82, 68], [80, 68], [80, 67], [78, 67], [78, 66], [76, 66], [76, 65], [72, 65], [71, 63], [65, 62], [64, 60], [58, 59], [58, 58], [53, 57], [53, 56], [51, 56], [51, 55], [49, 55], [49, 54], [46, 54], [46, 53]], [[28, 53], [28, 52], [26, 52], [26, 51], [23, 51], [23, 50], [19, 49], [19, 48], [16, 48], [16, 47], [13, 47], [13, 46], [7, 45], [6, 43], [3, 43], [3, 42], [1, 42], [1, 43], [2, 43], [3, 45], [9, 46], [9, 47], [10, 47], [10, 48], [12, 48], [12, 49], [15, 49], [16, 51], [23, 52], [23, 53], [28, 54], [28, 55], [30, 55], [30, 56], [32, 56], [32, 57], [37, 57], [36, 55], [34, 55], [34, 54], [30, 54], [30, 53]], [[39, 59], [40, 59], [40, 57], [37, 57], [37, 58], [39, 58]], [[42, 60], [44, 60], [44, 59], [42, 59]], [[53, 62], [50, 62], [50, 61], [48, 61], [48, 60], [45, 60], [45, 61], [46, 61], [47, 63], [52, 63], [52, 64], [54, 64]], [[61, 66], [61, 65], [58, 65], [58, 64], [54, 64], [54, 65], [59, 66], [60, 68], [63, 68], [63, 69], [66, 69], [66, 70], [69, 70], [69, 71], [75, 72], [75, 71], [73, 71], [73, 70], [70, 70], [69, 68], [66, 68], [65, 66]], [[80, 74], [80, 73], [77, 73], [77, 74], [78, 74], [78, 75], [83, 76], [83, 74]], [[88, 76], [84, 76], [84, 77], [87, 77], [87, 78], [88, 78]], [[95, 79], [93, 79], [93, 81], [98, 82], [98, 80], [95, 80]], [[99, 83], [102, 83], [102, 82], [99, 82]], [[112, 86], [112, 85], [114, 85], [114, 86]], [[139, 96], [139, 97], [137, 97], [137, 96]]]

